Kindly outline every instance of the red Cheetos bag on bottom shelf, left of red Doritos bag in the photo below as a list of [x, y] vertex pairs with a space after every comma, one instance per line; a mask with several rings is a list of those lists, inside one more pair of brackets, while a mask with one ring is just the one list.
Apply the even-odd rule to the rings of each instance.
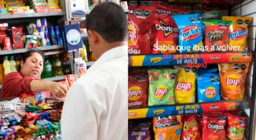
[[196, 120], [196, 114], [183, 115], [183, 128], [180, 140], [201, 140], [200, 125]]

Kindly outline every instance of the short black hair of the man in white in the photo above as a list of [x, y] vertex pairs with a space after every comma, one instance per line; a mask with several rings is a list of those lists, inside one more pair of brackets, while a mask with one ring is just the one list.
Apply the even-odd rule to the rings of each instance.
[[103, 2], [95, 6], [86, 18], [86, 29], [96, 31], [108, 43], [127, 40], [128, 19], [121, 6]]

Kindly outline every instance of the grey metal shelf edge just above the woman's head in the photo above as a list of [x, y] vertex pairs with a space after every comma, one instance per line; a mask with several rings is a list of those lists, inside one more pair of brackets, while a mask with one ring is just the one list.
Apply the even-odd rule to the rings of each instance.
[[16, 49], [16, 50], [9, 50], [9, 51], [0, 51], [0, 55], [24, 53], [30, 49], [39, 49], [41, 51], [48, 51], [48, 50], [62, 49], [62, 48], [63, 48], [63, 45], [52, 45], [52, 46], [37, 47], [37, 48]]

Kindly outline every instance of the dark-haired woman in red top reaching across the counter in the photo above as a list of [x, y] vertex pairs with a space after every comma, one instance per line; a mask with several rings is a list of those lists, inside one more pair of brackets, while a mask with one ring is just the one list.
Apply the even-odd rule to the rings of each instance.
[[1, 99], [18, 97], [20, 93], [37, 94], [39, 91], [50, 90], [57, 97], [66, 96], [67, 89], [58, 82], [41, 81], [44, 58], [39, 50], [30, 50], [20, 61], [18, 72], [4, 77]]

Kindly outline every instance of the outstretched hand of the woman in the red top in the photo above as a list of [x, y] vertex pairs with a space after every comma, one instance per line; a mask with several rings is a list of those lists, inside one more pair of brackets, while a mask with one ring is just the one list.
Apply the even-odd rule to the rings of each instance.
[[65, 97], [68, 91], [68, 89], [66, 89], [65, 86], [58, 82], [50, 82], [49, 90], [52, 94], [56, 95], [57, 97]]

